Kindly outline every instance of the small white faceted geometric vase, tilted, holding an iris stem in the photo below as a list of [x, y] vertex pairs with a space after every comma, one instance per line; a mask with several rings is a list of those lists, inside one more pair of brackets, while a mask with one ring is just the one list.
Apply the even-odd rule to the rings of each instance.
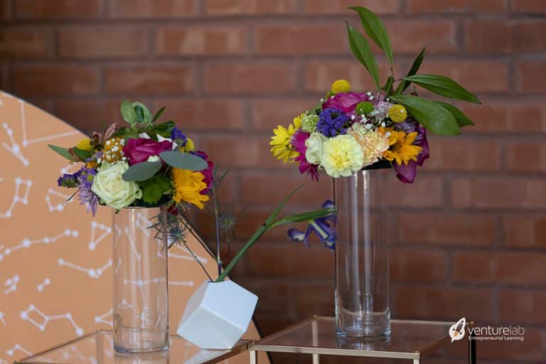
[[176, 333], [200, 348], [230, 349], [247, 331], [257, 301], [234, 282], [204, 282], [189, 299]]

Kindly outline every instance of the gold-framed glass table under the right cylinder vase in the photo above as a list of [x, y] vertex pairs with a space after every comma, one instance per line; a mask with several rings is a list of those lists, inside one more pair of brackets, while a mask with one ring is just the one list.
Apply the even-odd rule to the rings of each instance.
[[[346, 339], [336, 336], [333, 317], [313, 317], [262, 340], [250, 343], [250, 363], [257, 363], [257, 351], [306, 353], [319, 364], [320, 355], [413, 360], [449, 346], [452, 322], [392, 320], [389, 337]], [[464, 340], [469, 341], [466, 337]], [[469, 341], [469, 363], [476, 363], [476, 341]]]

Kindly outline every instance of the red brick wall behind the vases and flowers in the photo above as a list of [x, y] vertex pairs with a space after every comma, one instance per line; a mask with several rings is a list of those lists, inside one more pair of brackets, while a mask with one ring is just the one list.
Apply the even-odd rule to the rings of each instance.
[[[385, 19], [399, 74], [427, 45], [424, 72], [454, 77], [483, 100], [464, 105], [476, 127], [431, 138], [413, 186], [390, 184], [394, 316], [523, 324], [524, 343], [481, 345], [481, 362], [544, 363], [545, 3], [2, 0], [0, 87], [85, 131], [118, 120], [126, 97], [168, 106], [166, 115], [232, 171], [223, 195], [247, 207], [244, 240], [306, 181], [269, 155], [272, 127], [313, 105], [332, 80], [371, 86], [343, 26], [358, 24], [346, 6], [369, 6]], [[289, 208], [315, 208], [329, 188], [326, 178], [309, 183]], [[200, 227], [210, 235], [209, 220]], [[277, 230], [234, 277], [259, 294], [256, 319], [267, 334], [332, 314], [332, 272], [331, 252]]]

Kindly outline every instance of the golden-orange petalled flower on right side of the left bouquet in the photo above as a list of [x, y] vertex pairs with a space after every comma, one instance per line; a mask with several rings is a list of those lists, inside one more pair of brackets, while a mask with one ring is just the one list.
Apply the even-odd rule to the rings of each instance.
[[203, 203], [208, 201], [208, 196], [201, 194], [201, 191], [207, 188], [207, 184], [203, 181], [205, 179], [203, 173], [172, 168], [171, 177], [175, 190], [173, 200], [177, 203], [192, 203], [201, 210], [205, 208]]

